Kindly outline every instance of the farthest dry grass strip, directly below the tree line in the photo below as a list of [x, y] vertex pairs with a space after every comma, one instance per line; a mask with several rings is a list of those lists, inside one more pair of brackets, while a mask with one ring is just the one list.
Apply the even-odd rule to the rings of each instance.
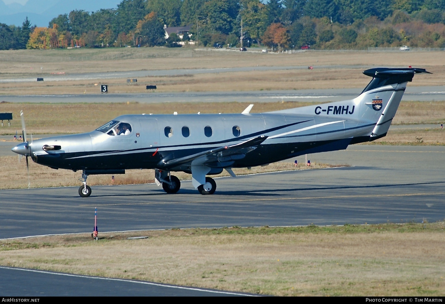
[[[308, 51], [295, 54], [192, 49], [73, 49], [0, 51], [2, 78], [7, 74], [44, 75], [54, 72], [225, 68], [287, 65], [444, 66], [442, 52]], [[40, 69], [42, 68], [42, 69]]]

